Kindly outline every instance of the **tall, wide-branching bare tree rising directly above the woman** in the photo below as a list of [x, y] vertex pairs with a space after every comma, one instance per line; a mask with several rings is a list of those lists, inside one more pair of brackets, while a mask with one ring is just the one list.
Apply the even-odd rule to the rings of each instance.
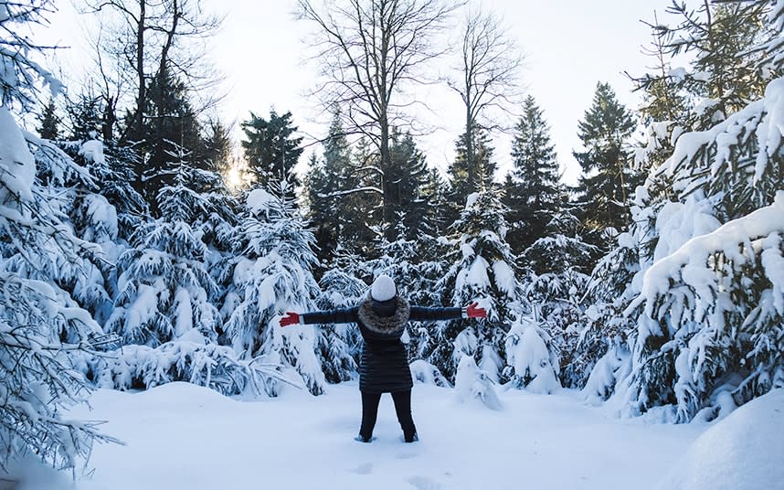
[[[301, 19], [318, 28], [313, 59], [323, 82], [316, 94], [327, 107], [339, 107], [348, 133], [366, 136], [377, 150], [382, 178], [384, 222], [391, 223], [393, 199], [389, 138], [392, 127], [408, 126], [406, 110], [420, 101], [406, 88], [426, 83], [423, 73], [444, 50], [434, 43], [459, 0], [342, 0], [317, 8], [299, 0]], [[392, 229], [389, 228], [391, 232]]]

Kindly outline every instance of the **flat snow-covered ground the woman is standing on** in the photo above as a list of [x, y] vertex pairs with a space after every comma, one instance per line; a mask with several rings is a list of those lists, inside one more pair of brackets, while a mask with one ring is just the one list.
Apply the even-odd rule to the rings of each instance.
[[[776, 452], [784, 455], [771, 435], [784, 429], [780, 389], [713, 426], [616, 419], [567, 390], [510, 390], [500, 399], [503, 410], [493, 411], [458, 403], [453, 389], [417, 385], [413, 406], [421, 441], [401, 441], [392, 400], [385, 396], [376, 440], [366, 444], [353, 440], [360, 410], [355, 382], [331, 386], [321, 397], [290, 389], [262, 401], [228, 399], [185, 383], [141, 393], [101, 390], [92, 396], [91, 412], [79, 408], [72, 415], [108, 420], [105, 431], [127, 445], [96, 447], [94, 473], [75, 485], [66, 474], [56, 484], [28, 469], [23, 473], [35, 478], [21, 488], [648, 489], [672, 468], [680, 472], [672, 482], [699, 475], [710, 454], [700, 451], [705, 444], [731, 448], [738, 437], [745, 441], [742, 449], [759, 442], [741, 431], [755, 421], [762, 430], [751, 434], [768, 434], [772, 461]], [[709, 439], [700, 437], [703, 432]], [[730, 471], [731, 463], [743, 465], [748, 458], [729, 449], [722, 454], [718, 463]], [[708, 461], [707, 471], [714, 472], [715, 464]]]

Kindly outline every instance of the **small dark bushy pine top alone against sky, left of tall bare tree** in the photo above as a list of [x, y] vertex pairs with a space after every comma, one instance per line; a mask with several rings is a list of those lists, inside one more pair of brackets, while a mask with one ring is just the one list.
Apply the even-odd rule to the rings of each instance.
[[291, 112], [278, 115], [270, 111], [270, 119], [250, 113], [250, 119], [240, 124], [247, 140], [242, 141], [245, 158], [256, 186], [270, 188], [282, 179], [290, 182], [291, 196], [294, 186], [299, 186], [293, 168], [302, 154], [302, 137], [293, 137], [297, 127], [291, 123]]

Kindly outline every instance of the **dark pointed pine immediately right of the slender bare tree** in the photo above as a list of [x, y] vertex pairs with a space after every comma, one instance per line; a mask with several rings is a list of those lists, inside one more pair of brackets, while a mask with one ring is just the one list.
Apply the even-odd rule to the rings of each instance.
[[510, 209], [509, 243], [520, 253], [544, 237], [547, 224], [561, 207], [564, 192], [558, 183], [556, 149], [550, 143], [549, 126], [528, 96], [512, 144], [514, 168], [507, 176], [503, 202]]

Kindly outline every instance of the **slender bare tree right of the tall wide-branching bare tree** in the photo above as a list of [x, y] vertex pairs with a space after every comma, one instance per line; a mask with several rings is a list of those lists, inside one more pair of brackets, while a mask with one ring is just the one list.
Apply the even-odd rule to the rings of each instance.
[[[519, 71], [523, 56], [514, 38], [492, 12], [471, 9], [461, 27], [460, 79], [447, 80], [465, 106], [468, 182], [476, 183], [474, 141], [476, 132], [499, 127], [498, 112], [513, 113], [519, 103]], [[498, 110], [498, 111], [493, 111]]]

